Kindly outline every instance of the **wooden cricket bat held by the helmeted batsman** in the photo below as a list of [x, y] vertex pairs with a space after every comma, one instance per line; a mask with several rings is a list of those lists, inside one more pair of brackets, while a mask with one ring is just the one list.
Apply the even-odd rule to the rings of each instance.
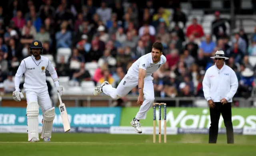
[[62, 103], [62, 100], [60, 98], [60, 93], [57, 92], [57, 94], [58, 94], [58, 98], [60, 100], [59, 109], [60, 109], [60, 115], [61, 115], [61, 118], [62, 118], [64, 131], [68, 132], [68, 131], [70, 131], [70, 123], [69, 123], [69, 120], [68, 120], [68, 113], [67, 113], [67, 110], [66, 110], [66, 106], [65, 106], [64, 103]]

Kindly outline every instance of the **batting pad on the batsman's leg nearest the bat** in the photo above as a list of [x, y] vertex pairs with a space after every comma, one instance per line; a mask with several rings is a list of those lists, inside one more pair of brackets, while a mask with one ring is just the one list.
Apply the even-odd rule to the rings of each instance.
[[55, 108], [52, 107], [49, 110], [46, 110], [46, 112], [43, 115], [43, 128], [42, 128], [42, 133], [41, 133], [41, 138], [45, 137], [52, 137], [52, 124], [53, 120], [55, 118]]

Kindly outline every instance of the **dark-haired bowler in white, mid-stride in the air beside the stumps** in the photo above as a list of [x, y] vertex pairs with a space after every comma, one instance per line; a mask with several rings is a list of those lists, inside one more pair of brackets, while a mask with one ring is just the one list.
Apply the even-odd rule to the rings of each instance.
[[162, 43], [155, 42], [151, 53], [141, 56], [132, 64], [117, 88], [113, 88], [108, 81], [105, 81], [100, 86], [97, 86], [93, 92], [94, 96], [104, 92], [113, 99], [118, 99], [126, 96], [132, 88], [138, 85], [139, 96], [137, 104], [140, 105], [140, 110], [130, 122], [137, 133], [142, 133], [140, 120], [146, 119], [146, 114], [155, 100], [152, 73], [166, 62], [166, 57], [162, 55], [162, 50]]

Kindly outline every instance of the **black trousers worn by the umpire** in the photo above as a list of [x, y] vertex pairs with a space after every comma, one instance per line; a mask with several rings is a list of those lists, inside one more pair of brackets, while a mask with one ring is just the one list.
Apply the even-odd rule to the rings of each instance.
[[227, 133], [228, 144], [234, 144], [234, 132], [232, 124], [231, 103], [222, 104], [215, 102], [215, 107], [210, 108], [211, 126], [209, 129], [209, 143], [216, 144], [218, 138], [218, 125], [222, 114]]

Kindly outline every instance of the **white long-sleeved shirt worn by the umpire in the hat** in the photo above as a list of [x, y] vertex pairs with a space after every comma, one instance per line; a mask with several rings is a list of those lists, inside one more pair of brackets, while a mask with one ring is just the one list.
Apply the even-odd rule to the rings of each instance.
[[207, 101], [212, 99], [213, 102], [220, 102], [222, 98], [226, 98], [228, 102], [232, 102], [237, 88], [236, 73], [225, 63], [220, 70], [216, 64], [211, 66], [204, 75], [203, 91]]

